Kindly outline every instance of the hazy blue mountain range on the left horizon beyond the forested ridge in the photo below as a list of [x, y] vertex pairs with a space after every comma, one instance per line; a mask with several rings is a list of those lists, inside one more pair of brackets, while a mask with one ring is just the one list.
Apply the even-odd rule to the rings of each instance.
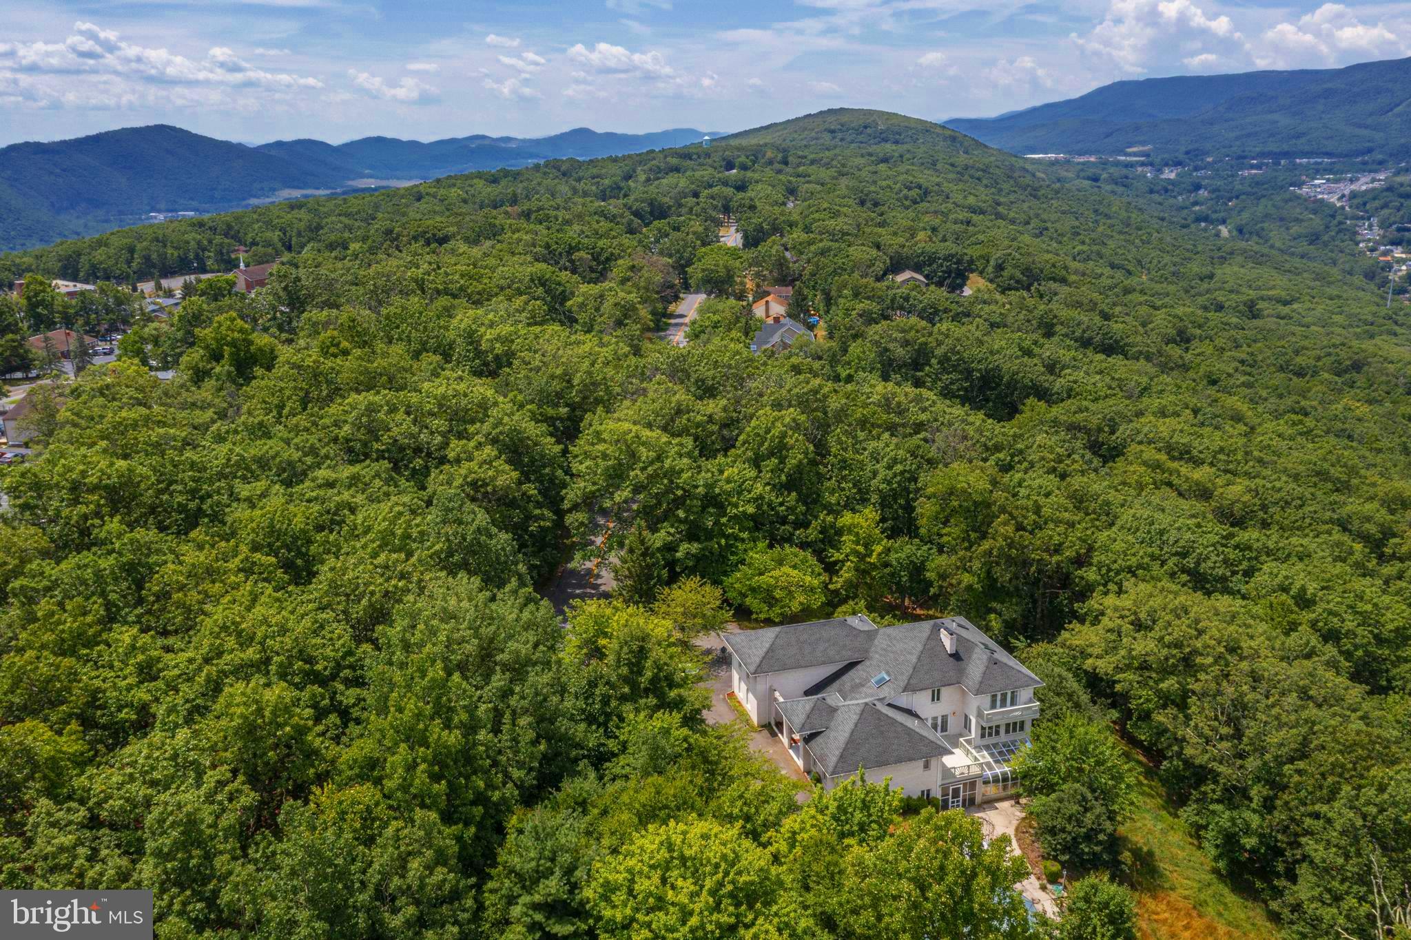
[[154, 212], [222, 212], [542, 159], [588, 159], [676, 147], [718, 131], [614, 134], [579, 127], [550, 137], [364, 137], [346, 144], [281, 140], [258, 147], [155, 124], [0, 148], [0, 250], [137, 224]]

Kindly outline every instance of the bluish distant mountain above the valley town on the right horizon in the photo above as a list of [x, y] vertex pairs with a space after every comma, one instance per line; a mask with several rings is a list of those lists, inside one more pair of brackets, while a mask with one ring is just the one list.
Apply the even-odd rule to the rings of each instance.
[[1411, 59], [1342, 69], [1115, 82], [948, 127], [1017, 154], [1411, 157]]

